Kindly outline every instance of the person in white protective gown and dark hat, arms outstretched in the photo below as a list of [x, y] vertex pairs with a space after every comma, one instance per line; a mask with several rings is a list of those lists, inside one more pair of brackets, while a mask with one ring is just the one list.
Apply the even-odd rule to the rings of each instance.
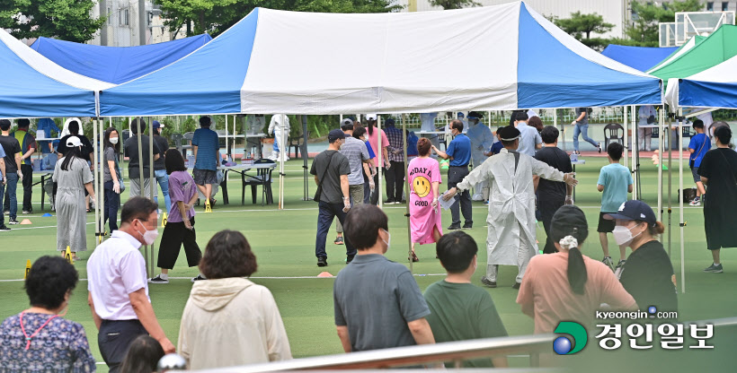
[[516, 151], [519, 130], [514, 126], [500, 128], [497, 132], [504, 145], [499, 154], [474, 168], [457, 187], [448, 189], [448, 200], [459, 191], [468, 190], [483, 180], [490, 183], [489, 215], [486, 218], [488, 255], [484, 285], [495, 288], [499, 265], [517, 265], [519, 273], [514, 289], [519, 289], [522, 276], [532, 256], [537, 255], [535, 224], [535, 189], [532, 176], [553, 181], [564, 181], [575, 186], [578, 180], [573, 173], [563, 173]]

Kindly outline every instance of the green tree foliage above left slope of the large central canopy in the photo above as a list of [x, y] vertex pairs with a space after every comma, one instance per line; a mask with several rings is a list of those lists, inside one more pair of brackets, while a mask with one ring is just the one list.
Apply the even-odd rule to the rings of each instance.
[[[0, 0], [3, 1], [3, 0]], [[155, 0], [164, 24], [171, 31], [185, 29], [187, 36], [208, 32], [218, 36], [253, 8], [322, 13], [386, 13], [402, 7], [389, 0]], [[192, 27], [189, 27], [192, 25]]]

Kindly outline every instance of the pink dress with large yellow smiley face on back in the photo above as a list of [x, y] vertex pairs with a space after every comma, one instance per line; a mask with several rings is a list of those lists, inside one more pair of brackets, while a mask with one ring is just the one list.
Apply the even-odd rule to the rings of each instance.
[[437, 228], [443, 235], [442, 213], [440, 204], [432, 208], [432, 183], [442, 183], [440, 165], [432, 158], [415, 158], [410, 160], [407, 168], [410, 178], [410, 227], [412, 241], [419, 244], [435, 242], [432, 230]]

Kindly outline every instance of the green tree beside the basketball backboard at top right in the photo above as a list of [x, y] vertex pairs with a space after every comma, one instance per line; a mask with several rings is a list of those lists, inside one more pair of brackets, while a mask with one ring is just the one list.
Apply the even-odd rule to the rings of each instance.
[[632, 2], [633, 17], [631, 26], [625, 29], [625, 34], [641, 47], [658, 47], [658, 23], [673, 22], [676, 12], [697, 12], [703, 9], [698, 0], [673, 1], [656, 5], [653, 3]]

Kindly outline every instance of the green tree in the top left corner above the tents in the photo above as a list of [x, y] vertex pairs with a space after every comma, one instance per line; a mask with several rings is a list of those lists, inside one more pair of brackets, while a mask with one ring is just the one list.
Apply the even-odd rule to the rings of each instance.
[[84, 42], [94, 38], [105, 18], [93, 18], [93, 0], [0, 0], [0, 27], [18, 39], [58, 38]]

